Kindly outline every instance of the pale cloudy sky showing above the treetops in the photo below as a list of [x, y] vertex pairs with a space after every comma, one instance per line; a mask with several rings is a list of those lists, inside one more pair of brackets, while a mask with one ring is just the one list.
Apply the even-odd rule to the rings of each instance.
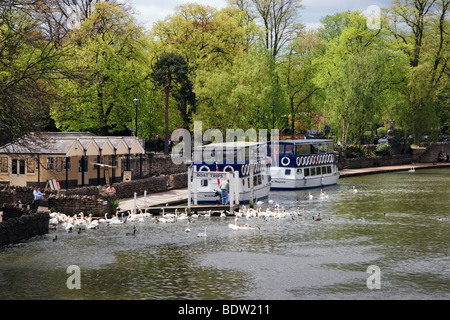
[[[136, 18], [150, 30], [153, 23], [163, 20], [174, 13], [177, 5], [197, 2], [212, 6], [218, 10], [227, 6], [226, 0], [128, 0], [137, 12]], [[307, 28], [320, 25], [320, 19], [327, 14], [334, 14], [347, 10], [365, 11], [371, 5], [386, 7], [392, 0], [303, 0], [301, 10], [302, 22]]]

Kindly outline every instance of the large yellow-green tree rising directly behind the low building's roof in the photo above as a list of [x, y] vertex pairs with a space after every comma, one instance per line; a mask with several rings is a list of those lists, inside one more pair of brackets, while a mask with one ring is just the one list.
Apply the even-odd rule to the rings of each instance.
[[132, 99], [149, 76], [146, 40], [132, 15], [120, 4], [97, 3], [68, 43], [75, 46], [67, 61], [72, 76], [60, 82], [61, 103], [52, 109], [57, 126], [102, 135], [132, 126]]

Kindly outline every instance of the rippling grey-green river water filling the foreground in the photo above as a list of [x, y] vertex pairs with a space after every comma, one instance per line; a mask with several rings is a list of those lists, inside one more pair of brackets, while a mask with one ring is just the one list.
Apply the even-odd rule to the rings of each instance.
[[[232, 217], [193, 219], [190, 233], [150, 219], [60, 228], [0, 248], [0, 299], [449, 299], [449, 182], [427, 169], [341, 178], [323, 199], [271, 192], [305, 214], [240, 219], [259, 230], [232, 230]], [[72, 265], [80, 289], [67, 286]]]

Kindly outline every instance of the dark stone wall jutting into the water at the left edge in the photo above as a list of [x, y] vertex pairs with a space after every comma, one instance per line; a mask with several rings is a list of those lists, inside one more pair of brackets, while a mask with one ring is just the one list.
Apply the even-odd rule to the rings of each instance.
[[9, 205], [0, 211], [3, 211], [3, 222], [0, 222], [0, 246], [48, 233], [50, 216], [47, 212], [32, 213]]

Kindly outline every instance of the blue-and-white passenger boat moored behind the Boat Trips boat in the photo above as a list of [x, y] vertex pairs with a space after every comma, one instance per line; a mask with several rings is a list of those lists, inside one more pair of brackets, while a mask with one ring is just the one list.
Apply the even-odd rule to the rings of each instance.
[[[274, 144], [271, 142], [271, 144]], [[280, 140], [269, 146], [271, 189], [307, 189], [334, 185], [340, 173], [329, 139]]]

